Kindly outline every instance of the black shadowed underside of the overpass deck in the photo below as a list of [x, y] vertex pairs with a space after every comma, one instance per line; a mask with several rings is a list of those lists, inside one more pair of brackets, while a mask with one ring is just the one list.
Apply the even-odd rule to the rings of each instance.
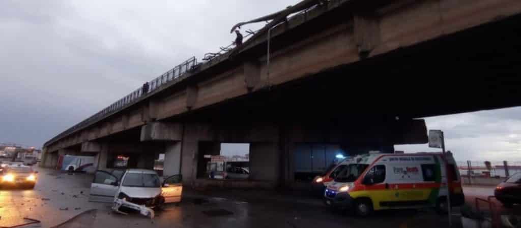
[[485, 24], [172, 120], [411, 119], [519, 106], [519, 22]]

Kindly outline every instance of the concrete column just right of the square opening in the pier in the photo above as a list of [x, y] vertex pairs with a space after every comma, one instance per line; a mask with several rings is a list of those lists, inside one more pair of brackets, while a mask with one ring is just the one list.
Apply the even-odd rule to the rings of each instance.
[[280, 156], [277, 143], [250, 144], [250, 179], [277, 184], [280, 175]]

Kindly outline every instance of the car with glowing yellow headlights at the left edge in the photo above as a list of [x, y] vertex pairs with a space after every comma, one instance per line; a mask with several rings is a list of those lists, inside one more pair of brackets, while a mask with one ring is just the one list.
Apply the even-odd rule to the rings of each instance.
[[0, 186], [2, 187], [28, 187], [34, 188], [36, 184], [36, 173], [29, 166], [22, 164], [5, 166], [0, 170]]

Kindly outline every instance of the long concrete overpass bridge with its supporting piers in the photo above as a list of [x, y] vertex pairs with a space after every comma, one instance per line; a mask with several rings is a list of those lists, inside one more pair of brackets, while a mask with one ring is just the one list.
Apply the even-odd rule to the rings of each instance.
[[[151, 168], [164, 153], [187, 184], [296, 187], [296, 156], [390, 153], [427, 142], [418, 118], [521, 105], [520, 13], [516, 0], [330, 0], [168, 71], [46, 142], [42, 164], [123, 154]], [[249, 181], [204, 179], [220, 143], [250, 143]]]

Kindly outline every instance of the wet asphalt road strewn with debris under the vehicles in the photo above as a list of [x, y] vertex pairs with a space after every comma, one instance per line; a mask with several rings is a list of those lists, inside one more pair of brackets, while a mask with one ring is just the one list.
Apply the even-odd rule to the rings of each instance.
[[[68, 175], [49, 169], [40, 171], [33, 190], [0, 191], [0, 227], [21, 224], [24, 217], [41, 223], [26, 227], [446, 227], [447, 218], [430, 210], [393, 210], [364, 219], [332, 212], [324, 206], [245, 202], [215, 197], [184, 197], [169, 205], [153, 220], [140, 214], [113, 213], [110, 204], [89, 202], [91, 175]], [[96, 209], [95, 211], [90, 211]], [[81, 214], [83, 213], [83, 214]], [[458, 220], [457, 211], [453, 217]]]

